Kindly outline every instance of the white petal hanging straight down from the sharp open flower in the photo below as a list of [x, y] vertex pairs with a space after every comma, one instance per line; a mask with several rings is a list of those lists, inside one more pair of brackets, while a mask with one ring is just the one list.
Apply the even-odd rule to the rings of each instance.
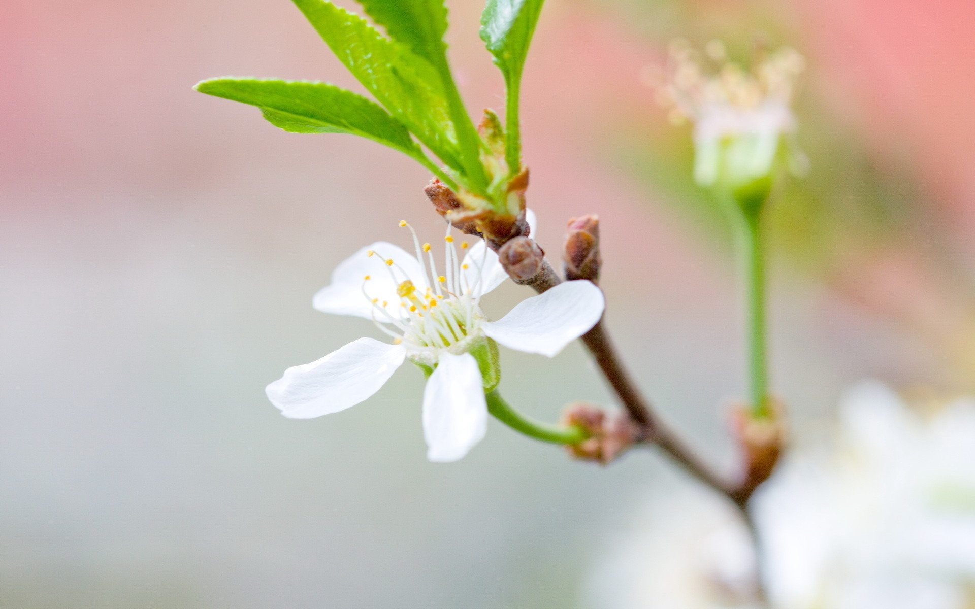
[[423, 391], [423, 438], [430, 461], [456, 461], [487, 432], [487, 401], [478, 362], [444, 352]]

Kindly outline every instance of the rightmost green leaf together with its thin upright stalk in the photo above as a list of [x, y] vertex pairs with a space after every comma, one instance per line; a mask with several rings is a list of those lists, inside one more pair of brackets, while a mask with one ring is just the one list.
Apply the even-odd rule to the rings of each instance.
[[505, 100], [505, 160], [513, 173], [522, 165], [522, 130], [519, 125], [519, 104], [522, 69], [528, 55], [531, 36], [538, 22], [544, 0], [487, 0], [481, 14], [481, 39], [494, 63], [504, 74], [507, 89]]

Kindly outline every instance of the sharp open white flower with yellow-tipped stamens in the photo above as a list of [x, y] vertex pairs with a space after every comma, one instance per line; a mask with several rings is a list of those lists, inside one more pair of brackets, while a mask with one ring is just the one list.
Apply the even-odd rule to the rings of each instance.
[[[530, 211], [528, 220], [533, 224]], [[427, 457], [456, 461], [487, 430], [485, 390], [497, 382], [496, 370], [482, 367], [492, 367], [491, 340], [554, 357], [600, 320], [603, 292], [588, 281], [565, 282], [491, 322], [481, 298], [508, 277], [497, 254], [479, 241], [461, 261], [448, 226], [446, 259], [437, 266], [431, 245], [420, 245], [405, 221], [400, 225], [412, 233], [415, 256], [386, 242], [363, 247], [335, 268], [313, 300], [323, 313], [372, 320], [392, 344], [354, 340], [289, 368], [267, 386], [267, 397], [291, 418], [338, 412], [370, 398], [409, 359], [432, 370], [423, 393]]]

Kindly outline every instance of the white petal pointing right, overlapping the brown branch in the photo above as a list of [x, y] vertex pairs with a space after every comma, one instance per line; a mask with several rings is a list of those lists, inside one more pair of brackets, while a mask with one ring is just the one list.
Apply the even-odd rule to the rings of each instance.
[[592, 282], [565, 282], [523, 300], [508, 315], [482, 327], [505, 347], [551, 358], [596, 325], [604, 306], [603, 290]]

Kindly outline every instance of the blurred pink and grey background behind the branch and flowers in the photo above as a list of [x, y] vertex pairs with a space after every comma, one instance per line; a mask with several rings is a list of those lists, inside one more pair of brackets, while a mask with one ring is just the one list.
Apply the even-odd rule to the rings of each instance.
[[[450, 3], [472, 110], [502, 103], [481, 8]], [[732, 267], [607, 154], [671, 129], [643, 66], [675, 35], [771, 31], [808, 58], [800, 95], [830, 129], [917, 188], [933, 232], [844, 251], [841, 277], [776, 265], [776, 386], [801, 435], [862, 376], [975, 386], [973, 24], [961, 0], [547, 3], [523, 110], [539, 239], [557, 251], [567, 217], [600, 214], [610, 325], [710, 456], [729, 454], [740, 391]], [[575, 606], [620, 506], [683, 478], [643, 455], [569, 463], [497, 426], [427, 464], [411, 370], [328, 421], [280, 417], [267, 382], [369, 331], [311, 310], [331, 267], [401, 239], [401, 218], [440, 225], [397, 153], [191, 90], [226, 74], [361, 91], [286, 0], [0, 11], [0, 606]], [[576, 347], [504, 361], [536, 416], [609, 401]]]

